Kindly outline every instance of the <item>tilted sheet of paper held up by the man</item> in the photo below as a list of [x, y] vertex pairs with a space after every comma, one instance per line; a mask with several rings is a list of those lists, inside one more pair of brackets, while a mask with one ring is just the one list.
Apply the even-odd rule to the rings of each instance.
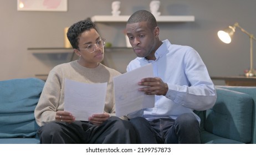
[[114, 77], [116, 116], [125, 116], [128, 113], [151, 108], [155, 105], [155, 95], [146, 95], [138, 89], [138, 82], [145, 77], [153, 77], [152, 64], [129, 71]]

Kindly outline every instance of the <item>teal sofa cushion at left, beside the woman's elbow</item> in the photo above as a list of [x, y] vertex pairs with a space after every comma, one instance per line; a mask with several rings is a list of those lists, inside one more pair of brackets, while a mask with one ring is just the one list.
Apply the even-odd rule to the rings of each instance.
[[43, 86], [36, 78], [0, 81], [0, 138], [35, 136], [34, 109]]

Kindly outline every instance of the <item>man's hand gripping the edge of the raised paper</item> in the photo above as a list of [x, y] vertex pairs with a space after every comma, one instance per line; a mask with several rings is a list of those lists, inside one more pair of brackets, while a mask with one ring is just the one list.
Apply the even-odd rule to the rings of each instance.
[[145, 86], [140, 88], [139, 91], [144, 91], [147, 95], [166, 95], [168, 91], [168, 85], [159, 77], [147, 77], [142, 79], [138, 84]]

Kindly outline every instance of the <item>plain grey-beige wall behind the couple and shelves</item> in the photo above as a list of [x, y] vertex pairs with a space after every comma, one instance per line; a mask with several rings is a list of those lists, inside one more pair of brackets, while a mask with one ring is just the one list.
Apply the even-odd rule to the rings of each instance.
[[[47, 74], [53, 66], [69, 61], [67, 54], [33, 54], [27, 48], [63, 47], [65, 27], [94, 15], [111, 15], [112, 1], [69, 0], [68, 12], [17, 11], [16, 0], [0, 2], [0, 80], [7, 80]], [[149, 10], [149, 3], [149, 0], [140, 0], [140, 4], [135, 0], [122, 0], [121, 15]], [[256, 34], [255, 6], [254, 0], [161, 0], [162, 15], [194, 16], [196, 20], [161, 23], [160, 38], [169, 39], [172, 44], [192, 46], [211, 76], [243, 74], [249, 68], [248, 36], [237, 29], [232, 43], [224, 44], [217, 38], [217, 32], [238, 22], [249, 33]], [[107, 42], [125, 46], [122, 34], [125, 23], [98, 24], [98, 28]], [[214, 83], [223, 84], [222, 81]]]

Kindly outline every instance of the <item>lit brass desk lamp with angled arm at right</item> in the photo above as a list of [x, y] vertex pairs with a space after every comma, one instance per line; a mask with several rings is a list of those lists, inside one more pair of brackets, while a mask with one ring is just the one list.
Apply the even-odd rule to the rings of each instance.
[[235, 23], [233, 26], [229, 26], [225, 28], [224, 30], [218, 31], [218, 37], [222, 40], [222, 42], [229, 44], [231, 43], [232, 36], [235, 32], [235, 28], [238, 27], [242, 32], [249, 35], [250, 38], [250, 70], [245, 73], [245, 76], [256, 76], [256, 72], [253, 69], [253, 40], [256, 40], [253, 36], [253, 34], [248, 33], [246, 30], [244, 30], [238, 23]]

